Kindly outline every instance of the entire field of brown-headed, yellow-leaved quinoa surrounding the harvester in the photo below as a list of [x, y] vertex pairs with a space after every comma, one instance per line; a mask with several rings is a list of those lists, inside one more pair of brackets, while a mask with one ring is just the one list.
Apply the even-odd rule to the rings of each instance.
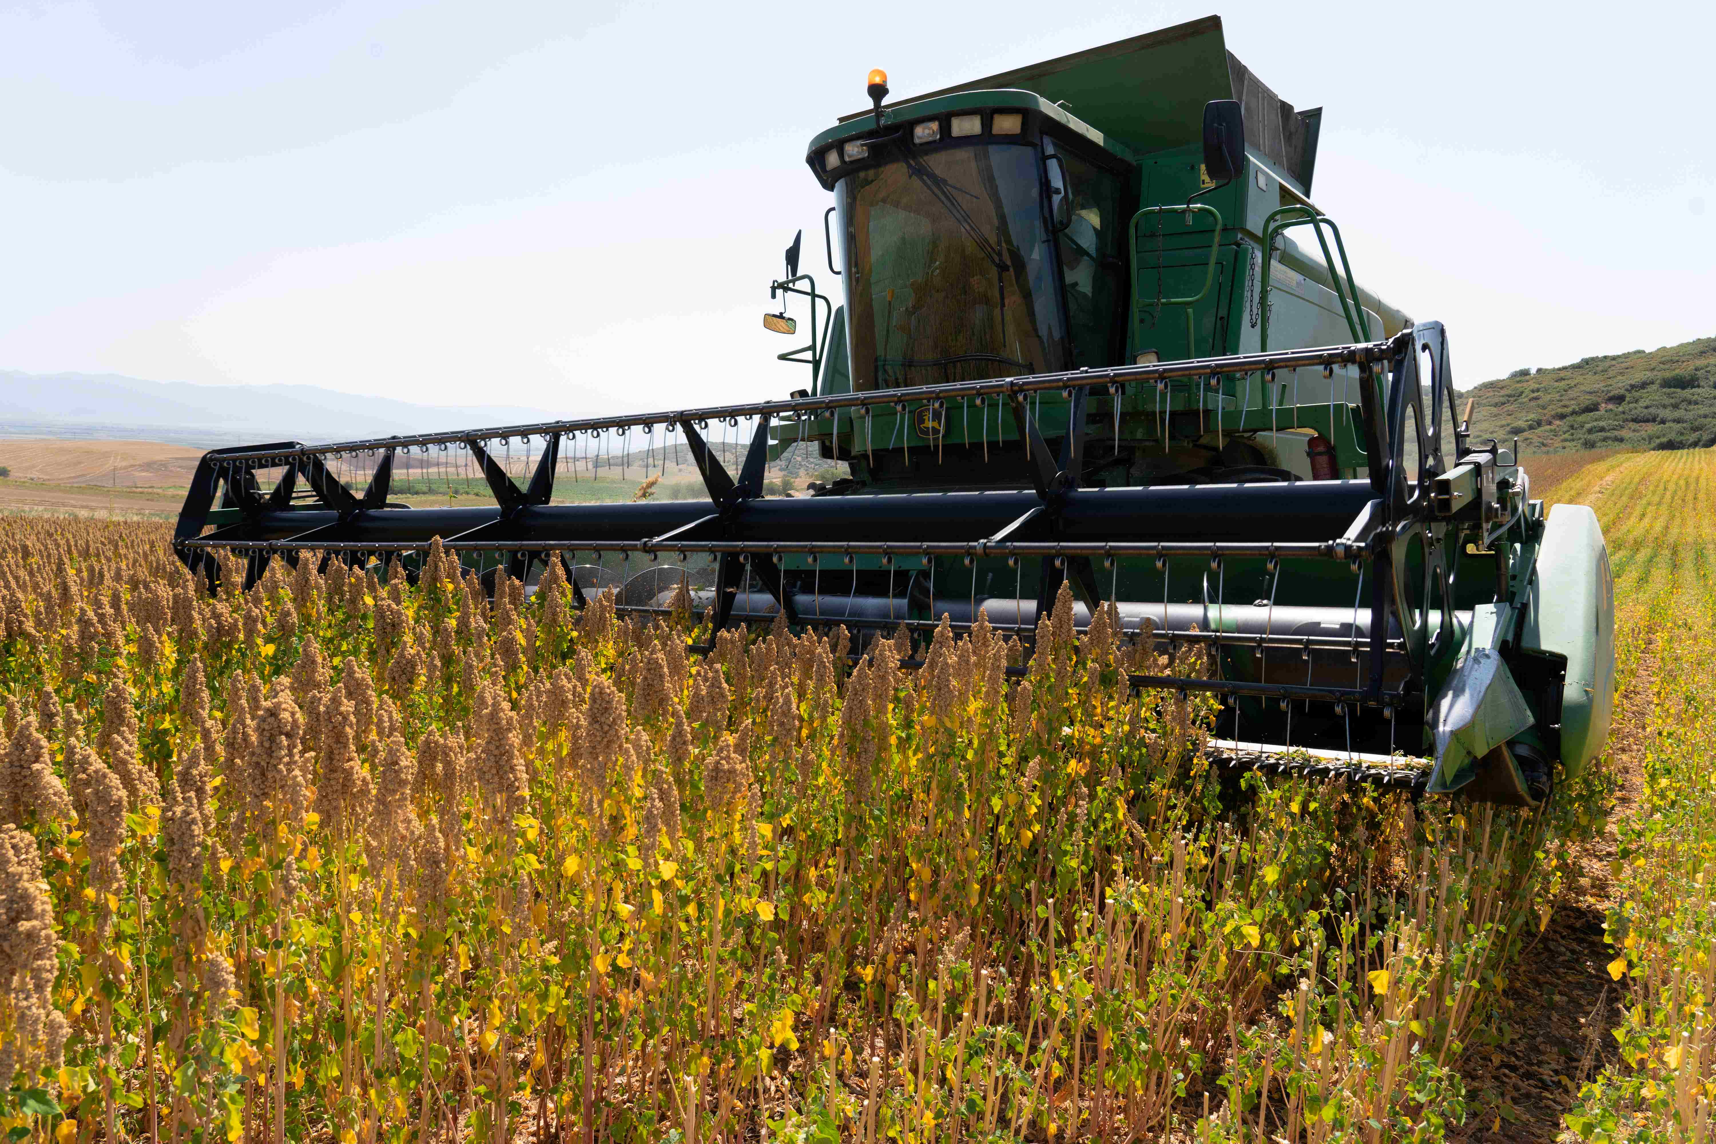
[[1716, 456], [1551, 497], [1623, 693], [1532, 813], [1224, 777], [1066, 597], [1031, 657], [705, 653], [554, 573], [209, 597], [166, 525], [0, 518], [0, 1132], [1704, 1139]]

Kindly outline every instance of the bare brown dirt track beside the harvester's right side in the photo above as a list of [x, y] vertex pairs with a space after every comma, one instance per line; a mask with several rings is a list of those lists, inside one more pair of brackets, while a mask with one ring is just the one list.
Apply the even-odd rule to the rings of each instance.
[[1620, 787], [1604, 832], [1574, 849], [1568, 882], [1550, 926], [1508, 974], [1496, 1026], [1503, 1043], [1474, 1048], [1465, 1060], [1469, 1120], [1450, 1141], [1553, 1142], [1579, 1086], [1615, 1057], [1610, 1036], [1625, 995], [1608, 974], [1613, 948], [1603, 940], [1603, 919], [1615, 904], [1611, 864], [1616, 822], [1634, 813], [1640, 762], [1656, 696], [1656, 641], [1616, 701], [1610, 767]]

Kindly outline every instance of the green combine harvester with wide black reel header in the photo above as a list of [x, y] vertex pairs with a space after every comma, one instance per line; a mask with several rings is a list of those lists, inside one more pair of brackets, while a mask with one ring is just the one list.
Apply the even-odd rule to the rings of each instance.
[[[764, 322], [777, 401], [204, 456], [177, 549], [467, 568], [716, 624], [892, 633], [978, 612], [1031, 641], [1066, 585], [1206, 648], [1211, 750], [1534, 804], [1603, 746], [1613, 581], [1596, 516], [1544, 513], [1457, 413], [1448, 336], [1357, 285], [1296, 111], [1217, 17], [887, 103], [805, 153], [831, 297], [795, 238]], [[831, 280], [824, 280], [827, 283]], [[808, 312], [805, 312], [808, 309]], [[764, 496], [770, 463], [843, 475]], [[597, 465], [695, 461], [707, 497], [556, 503]], [[726, 458], [726, 460], [724, 460]], [[642, 470], [642, 472], [640, 472]], [[468, 475], [479, 508], [405, 508]]]

